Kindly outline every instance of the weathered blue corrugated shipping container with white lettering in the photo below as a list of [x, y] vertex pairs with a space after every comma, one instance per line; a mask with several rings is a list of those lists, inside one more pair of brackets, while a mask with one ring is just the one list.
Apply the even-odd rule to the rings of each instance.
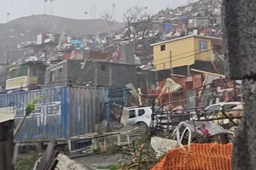
[[0, 113], [15, 113], [15, 126], [25, 113], [27, 102], [44, 96], [37, 109], [17, 134], [16, 142], [67, 141], [72, 136], [92, 133], [106, 102], [106, 88], [45, 88], [0, 95]]

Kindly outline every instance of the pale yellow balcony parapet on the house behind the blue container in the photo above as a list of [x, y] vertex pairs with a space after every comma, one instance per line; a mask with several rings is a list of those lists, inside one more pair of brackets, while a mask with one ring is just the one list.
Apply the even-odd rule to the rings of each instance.
[[6, 89], [26, 88], [28, 85], [37, 85], [38, 77], [15, 77], [6, 80]]

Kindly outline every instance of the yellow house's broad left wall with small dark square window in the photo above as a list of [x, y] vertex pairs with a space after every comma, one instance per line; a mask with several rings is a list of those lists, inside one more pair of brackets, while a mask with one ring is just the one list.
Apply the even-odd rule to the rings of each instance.
[[[165, 51], [160, 50], [161, 45], [166, 45]], [[153, 49], [156, 71], [170, 69], [170, 63], [172, 68], [183, 65], [193, 65], [195, 63], [194, 37], [155, 45]], [[172, 51], [171, 62], [170, 51]]]

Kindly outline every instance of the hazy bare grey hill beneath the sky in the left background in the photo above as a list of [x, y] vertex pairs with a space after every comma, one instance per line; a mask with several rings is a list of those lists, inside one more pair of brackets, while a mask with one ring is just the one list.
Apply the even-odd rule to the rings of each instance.
[[[116, 22], [113, 30], [123, 26], [123, 23]], [[96, 34], [108, 31], [108, 24], [105, 20], [74, 20], [45, 14], [31, 15], [0, 24], [0, 61], [6, 59], [7, 52], [10, 59], [19, 58], [17, 45], [20, 42], [35, 41], [39, 33], [62, 31], [72, 36]]]

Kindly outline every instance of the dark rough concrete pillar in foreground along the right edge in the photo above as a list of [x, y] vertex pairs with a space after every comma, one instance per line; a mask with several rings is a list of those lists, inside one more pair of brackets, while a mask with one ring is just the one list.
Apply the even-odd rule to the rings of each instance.
[[256, 169], [256, 1], [224, 0], [226, 75], [242, 81], [243, 121], [235, 135], [233, 169]]

